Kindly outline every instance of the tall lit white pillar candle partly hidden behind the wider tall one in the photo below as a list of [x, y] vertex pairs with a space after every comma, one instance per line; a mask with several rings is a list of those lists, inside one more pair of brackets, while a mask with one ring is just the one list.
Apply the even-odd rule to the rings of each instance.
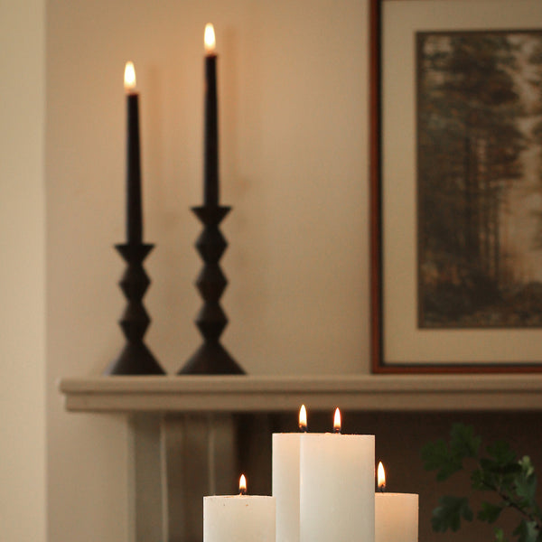
[[[306, 430], [304, 405], [299, 427]], [[272, 488], [276, 498], [276, 540], [299, 542], [299, 447], [301, 433], [273, 434]]]

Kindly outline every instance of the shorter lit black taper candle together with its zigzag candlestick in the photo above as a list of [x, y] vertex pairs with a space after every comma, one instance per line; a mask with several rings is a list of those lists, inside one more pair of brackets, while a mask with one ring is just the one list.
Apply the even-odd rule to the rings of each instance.
[[151, 284], [145, 273], [143, 260], [154, 248], [145, 244], [141, 213], [141, 161], [139, 152], [138, 95], [135, 92], [135, 69], [126, 63], [126, 244], [116, 245], [126, 261], [126, 271], [120, 287], [128, 304], [120, 319], [126, 345], [104, 371], [106, 375], [163, 375], [164, 369], [154, 359], [143, 337], [151, 322], [143, 305], [143, 296]]

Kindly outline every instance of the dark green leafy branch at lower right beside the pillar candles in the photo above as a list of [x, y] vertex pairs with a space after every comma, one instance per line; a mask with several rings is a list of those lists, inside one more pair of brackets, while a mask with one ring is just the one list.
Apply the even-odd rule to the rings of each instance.
[[[527, 455], [518, 459], [505, 442], [482, 450], [481, 437], [474, 435], [472, 426], [455, 424], [449, 442], [439, 439], [425, 444], [422, 459], [426, 471], [436, 471], [437, 481], [466, 470], [466, 460], [470, 460], [472, 490], [492, 493], [492, 500], [481, 502], [476, 518], [495, 523], [504, 509], [513, 509], [519, 515], [519, 524], [513, 531], [518, 542], [542, 542], [542, 511], [536, 501], [537, 475]], [[474, 512], [467, 497], [446, 495], [433, 510], [431, 524], [436, 532], [457, 531], [462, 520], [472, 519]], [[501, 528], [495, 528], [495, 540], [506, 542]]]

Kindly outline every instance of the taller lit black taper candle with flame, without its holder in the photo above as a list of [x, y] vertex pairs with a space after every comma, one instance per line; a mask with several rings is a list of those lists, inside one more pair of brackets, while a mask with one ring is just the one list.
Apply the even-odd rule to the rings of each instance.
[[212, 24], [205, 26], [205, 134], [203, 153], [203, 204], [219, 204], [219, 112], [217, 55]]

